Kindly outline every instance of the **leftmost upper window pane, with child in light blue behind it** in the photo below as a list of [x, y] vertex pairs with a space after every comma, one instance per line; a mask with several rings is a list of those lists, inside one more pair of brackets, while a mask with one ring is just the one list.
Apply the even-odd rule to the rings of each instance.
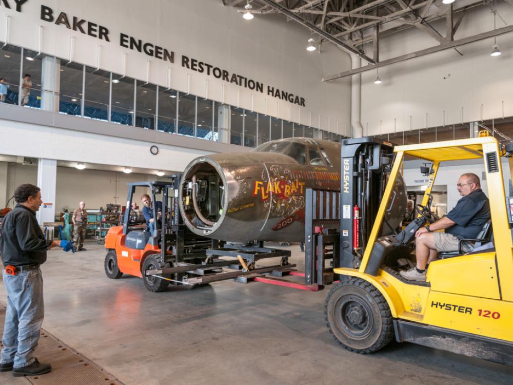
[[21, 48], [5, 46], [0, 53], [0, 76], [5, 79], [2, 87], [2, 101], [9, 104], [18, 104], [19, 93], [19, 61]]

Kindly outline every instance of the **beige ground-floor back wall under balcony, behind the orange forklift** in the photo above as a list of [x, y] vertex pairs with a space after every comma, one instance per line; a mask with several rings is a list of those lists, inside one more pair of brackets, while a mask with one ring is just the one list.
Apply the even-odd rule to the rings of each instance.
[[[7, 165], [7, 164], [6, 164]], [[37, 184], [37, 166], [9, 163], [7, 167], [6, 190], [7, 197], [14, 194], [17, 186], [23, 183]], [[150, 180], [165, 180], [154, 175], [124, 174], [123, 172], [104, 170], [76, 170], [70, 167], [57, 167], [57, 183], [55, 197], [55, 212], [59, 213], [64, 208], [73, 210], [78, 207], [78, 202], [85, 201], [86, 207], [97, 209], [107, 203], [125, 205], [127, 197], [127, 183]], [[142, 194], [142, 190], [140, 191]], [[139, 206], [142, 203], [136, 197]], [[5, 201], [0, 206], [4, 207]], [[14, 207], [14, 201], [9, 207]]]

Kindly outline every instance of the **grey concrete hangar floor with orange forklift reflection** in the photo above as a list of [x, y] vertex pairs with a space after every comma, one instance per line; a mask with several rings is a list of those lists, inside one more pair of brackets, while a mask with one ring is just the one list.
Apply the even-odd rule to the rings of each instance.
[[127, 385], [513, 383], [513, 368], [409, 343], [345, 351], [325, 325], [328, 290], [224, 281], [151, 293], [139, 278], [108, 279], [103, 246], [85, 246], [48, 253], [43, 328]]

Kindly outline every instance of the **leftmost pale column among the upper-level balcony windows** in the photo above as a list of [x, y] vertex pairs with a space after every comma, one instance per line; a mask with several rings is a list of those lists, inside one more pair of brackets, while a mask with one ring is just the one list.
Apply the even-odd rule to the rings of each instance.
[[[61, 88], [61, 61], [54, 57], [43, 57], [41, 67], [41, 109], [59, 111]], [[53, 222], [53, 221], [52, 221]]]

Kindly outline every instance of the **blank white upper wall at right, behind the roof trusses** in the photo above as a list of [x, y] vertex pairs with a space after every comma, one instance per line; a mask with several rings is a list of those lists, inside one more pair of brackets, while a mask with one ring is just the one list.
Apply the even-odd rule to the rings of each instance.
[[[511, 25], [513, 7], [498, 2], [497, 9]], [[445, 20], [432, 24], [445, 35]], [[497, 27], [504, 27], [499, 17]], [[490, 9], [486, 6], [473, 8], [463, 18], [455, 40], [492, 29], [494, 18]], [[383, 81], [380, 85], [373, 84], [376, 71], [364, 72], [364, 134], [502, 118], [503, 105], [504, 116], [513, 115], [513, 33], [497, 37], [497, 43], [502, 51], [498, 57], [490, 56], [494, 44], [491, 38], [458, 47], [463, 56], [450, 49], [380, 68]], [[380, 39], [380, 60], [438, 44], [426, 33], [410, 28]], [[450, 77], [444, 80], [448, 74]]]

